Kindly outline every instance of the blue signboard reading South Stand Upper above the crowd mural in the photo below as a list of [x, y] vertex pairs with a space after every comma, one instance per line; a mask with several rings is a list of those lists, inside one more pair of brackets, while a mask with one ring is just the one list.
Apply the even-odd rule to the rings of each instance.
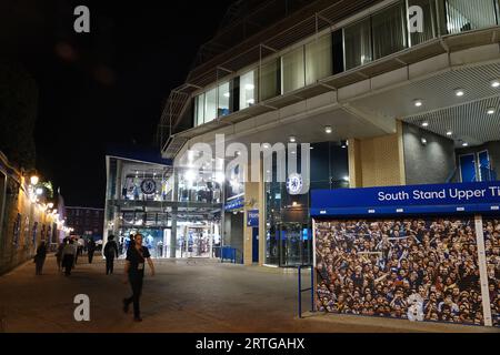
[[500, 181], [314, 190], [311, 205], [312, 216], [500, 213]]

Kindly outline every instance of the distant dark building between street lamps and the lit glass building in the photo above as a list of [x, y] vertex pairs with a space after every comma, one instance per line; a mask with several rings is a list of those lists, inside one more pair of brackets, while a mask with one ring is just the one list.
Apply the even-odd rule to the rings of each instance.
[[66, 207], [66, 224], [73, 229], [72, 234], [102, 239], [104, 210], [92, 207]]

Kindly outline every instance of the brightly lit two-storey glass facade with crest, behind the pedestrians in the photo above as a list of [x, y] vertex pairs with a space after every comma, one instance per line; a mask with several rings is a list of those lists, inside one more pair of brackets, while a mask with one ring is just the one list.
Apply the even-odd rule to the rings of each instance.
[[104, 235], [124, 255], [141, 233], [153, 257], [214, 257], [220, 246], [221, 183], [182, 168], [108, 156]]

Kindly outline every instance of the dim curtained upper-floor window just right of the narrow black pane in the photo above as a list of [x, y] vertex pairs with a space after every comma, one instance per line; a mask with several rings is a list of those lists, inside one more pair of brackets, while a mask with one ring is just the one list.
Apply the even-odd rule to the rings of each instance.
[[346, 70], [371, 62], [370, 18], [344, 28], [343, 48]]

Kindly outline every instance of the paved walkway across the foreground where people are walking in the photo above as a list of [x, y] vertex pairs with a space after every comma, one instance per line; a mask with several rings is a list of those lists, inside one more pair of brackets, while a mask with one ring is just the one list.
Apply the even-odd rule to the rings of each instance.
[[[297, 274], [210, 261], [156, 261], [157, 275], [144, 280], [142, 323], [121, 311], [129, 295], [122, 262], [104, 274], [97, 255], [82, 257], [70, 277], [57, 272], [53, 257], [44, 274], [27, 263], [0, 277], [3, 332], [484, 332], [471, 326], [320, 315], [297, 318]], [[73, 297], [87, 294], [91, 321], [76, 322]], [[307, 306], [307, 300], [304, 300]]]

